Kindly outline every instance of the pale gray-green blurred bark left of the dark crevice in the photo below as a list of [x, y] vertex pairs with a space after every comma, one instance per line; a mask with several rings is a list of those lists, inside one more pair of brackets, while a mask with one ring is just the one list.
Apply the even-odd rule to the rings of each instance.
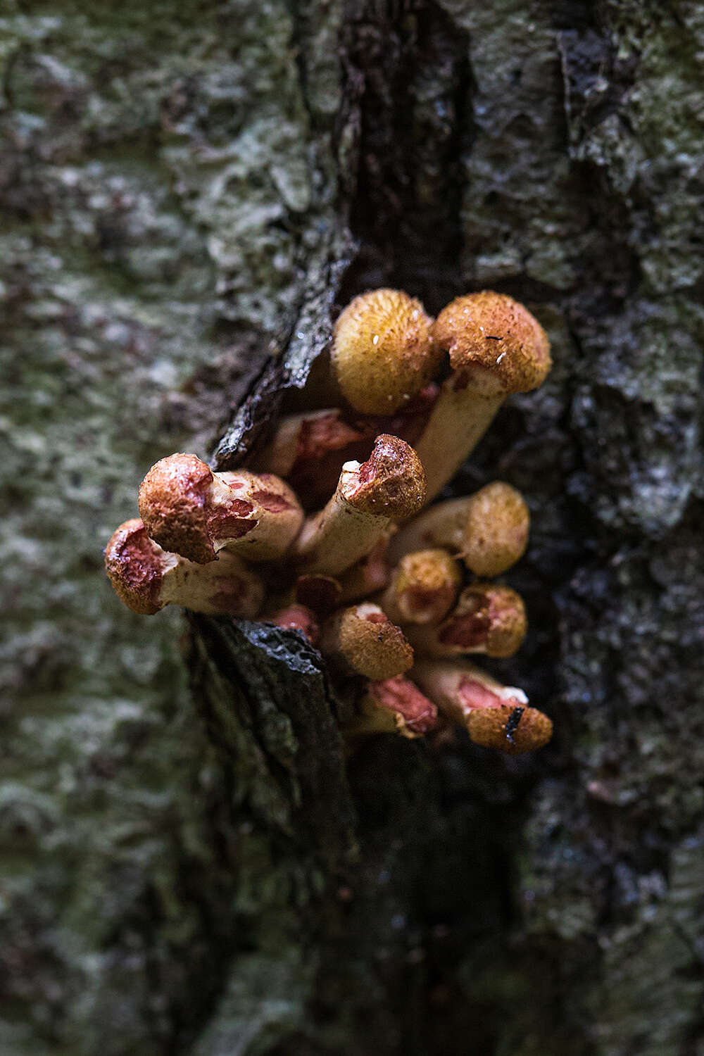
[[[293, 883], [223, 806], [178, 615], [122, 609], [101, 550], [152, 461], [207, 454], [242, 379], [294, 327], [308, 259], [337, 237], [309, 127], [335, 110], [337, 59], [309, 59], [308, 105], [297, 32], [283, 3], [0, 17], [13, 1056], [170, 1050], [215, 1000], [235, 921], [259, 911], [263, 884], [285, 907]], [[285, 926], [268, 926], [275, 946]]]

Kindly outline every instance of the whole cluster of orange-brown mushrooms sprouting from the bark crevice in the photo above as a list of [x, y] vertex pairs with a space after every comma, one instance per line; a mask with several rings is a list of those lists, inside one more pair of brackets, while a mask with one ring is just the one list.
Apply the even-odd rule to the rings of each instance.
[[300, 631], [354, 699], [351, 743], [456, 722], [477, 744], [539, 748], [550, 719], [467, 659], [510, 657], [525, 637], [520, 597], [488, 579], [526, 549], [526, 503], [496, 482], [427, 504], [506, 397], [549, 370], [545, 332], [510, 297], [459, 297], [434, 320], [400, 290], [363, 294], [306, 410], [249, 468], [217, 473], [192, 454], [152, 467], [140, 517], [108, 544], [111, 583], [136, 612], [178, 604]]

